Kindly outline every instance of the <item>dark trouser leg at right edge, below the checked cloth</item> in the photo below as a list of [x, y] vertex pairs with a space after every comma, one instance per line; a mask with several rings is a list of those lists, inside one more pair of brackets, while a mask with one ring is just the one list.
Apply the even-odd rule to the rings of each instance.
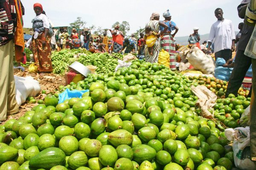
[[256, 59], [252, 59], [252, 68], [253, 68], [253, 80], [252, 88], [254, 92], [254, 99], [250, 105], [250, 150], [251, 157], [253, 160], [256, 160]]

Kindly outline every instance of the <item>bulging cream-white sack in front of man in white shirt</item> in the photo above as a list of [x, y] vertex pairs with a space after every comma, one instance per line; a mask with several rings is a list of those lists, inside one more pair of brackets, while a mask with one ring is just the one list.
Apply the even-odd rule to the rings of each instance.
[[214, 59], [210, 55], [204, 54], [204, 52], [195, 45], [192, 46], [186, 58], [196, 70], [204, 74], [214, 74]]

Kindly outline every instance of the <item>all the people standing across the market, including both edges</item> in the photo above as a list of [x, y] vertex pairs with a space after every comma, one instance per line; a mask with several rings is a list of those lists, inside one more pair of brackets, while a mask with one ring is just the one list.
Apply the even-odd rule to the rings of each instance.
[[[18, 62], [24, 62], [23, 20], [24, 8], [20, 0], [0, 0], [0, 12], [6, 14], [6, 19], [1, 20], [0, 31], [0, 121], [6, 120], [6, 114], [14, 114], [19, 111], [15, 100], [15, 80], [13, 73], [13, 48]], [[15, 8], [15, 10], [13, 10]], [[179, 28], [172, 21], [169, 10], [163, 13], [164, 20], [160, 21], [159, 13], [152, 13], [150, 21], [145, 25], [145, 32], [140, 33], [137, 39], [134, 35], [125, 37], [120, 26], [109, 29], [112, 40], [107, 32], [98, 36], [92, 36], [89, 30], [81, 33], [80, 37], [76, 29], [69, 34], [67, 29], [60, 30], [58, 40], [56, 32], [45, 14], [40, 3], [34, 6], [35, 18], [32, 20], [33, 35], [29, 40], [29, 48], [33, 52], [33, 58], [38, 64], [41, 74], [52, 71], [51, 51], [66, 48], [85, 48], [92, 52], [137, 53], [144, 56], [146, 62], [157, 62], [160, 49], [169, 53], [169, 67], [176, 70], [174, 37]], [[223, 67], [233, 67], [233, 71], [227, 86], [226, 97], [229, 94], [237, 95], [244, 76], [251, 66], [256, 71], [256, 0], [242, 0], [238, 6], [238, 15], [244, 19], [239, 23], [239, 33], [235, 35], [231, 20], [224, 19], [223, 10], [217, 8], [214, 11], [217, 21], [210, 28], [209, 40], [200, 45], [198, 27], [189, 35], [189, 44], [196, 45], [205, 53], [212, 53], [214, 49], [215, 60], [223, 58], [226, 64]], [[8, 16], [8, 17], [7, 17]], [[235, 47], [236, 44], [236, 47]], [[236, 57], [232, 59], [232, 52], [236, 51]], [[256, 74], [253, 74], [250, 111], [250, 141], [251, 159], [256, 160], [256, 100], [253, 91], [256, 91]]]

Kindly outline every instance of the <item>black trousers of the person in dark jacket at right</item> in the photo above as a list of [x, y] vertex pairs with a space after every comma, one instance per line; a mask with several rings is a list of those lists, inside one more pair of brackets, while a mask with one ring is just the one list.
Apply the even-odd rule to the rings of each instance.
[[234, 94], [235, 96], [237, 96], [237, 92], [241, 87], [244, 77], [248, 69], [250, 68], [251, 64], [252, 64], [252, 58], [244, 55], [244, 51], [238, 50], [236, 53], [234, 69], [231, 73], [231, 76], [227, 85], [226, 97], [229, 94]]

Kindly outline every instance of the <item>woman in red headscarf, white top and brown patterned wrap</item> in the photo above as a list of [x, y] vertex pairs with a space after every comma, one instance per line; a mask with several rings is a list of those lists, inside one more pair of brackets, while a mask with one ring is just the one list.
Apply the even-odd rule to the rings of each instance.
[[39, 72], [51, 72], [51, 37], [53, 35], [50, 29], [50, 22], [45, 14], [42, 14], [43, 7], [40, 3], [34, 4], [36, 17], [32, 20], [32, 28], [35, 32], [32, 37], [32, 50], [35, 62], [38, 63]]

